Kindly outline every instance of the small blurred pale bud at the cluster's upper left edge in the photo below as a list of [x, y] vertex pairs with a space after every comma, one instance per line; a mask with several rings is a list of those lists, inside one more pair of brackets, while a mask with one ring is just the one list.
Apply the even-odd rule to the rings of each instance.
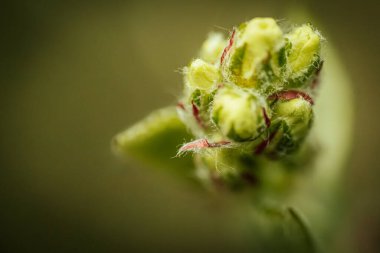
[[219, 62], [226, 43], [222, 33], [209, 33], [199, 52], [200, 58], [212, 64]]

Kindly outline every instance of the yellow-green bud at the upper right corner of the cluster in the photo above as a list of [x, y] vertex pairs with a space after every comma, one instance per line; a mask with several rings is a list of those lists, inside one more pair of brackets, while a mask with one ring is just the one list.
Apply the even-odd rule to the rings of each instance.
[[[287, 71], [291, 78], [305, 75], [315, 61], [319, 60], [321, 36], [310, 25], [294, 29], [288, 36], [290, 48]], [[317, 67], [317, 65], [316, 65]]]

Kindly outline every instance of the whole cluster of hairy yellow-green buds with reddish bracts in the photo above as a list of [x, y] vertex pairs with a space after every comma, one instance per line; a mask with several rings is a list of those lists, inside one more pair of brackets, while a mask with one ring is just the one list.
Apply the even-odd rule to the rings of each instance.
[[234, 147], [282, 157], [297, 150], [313, 122], [322, 39], [310, 24], [284, 31], [272, 18], [245, 22], [228, 39], [211, 33], [184, 68], [178, 103], [182, 121], [210, 145], [180, 151]]

